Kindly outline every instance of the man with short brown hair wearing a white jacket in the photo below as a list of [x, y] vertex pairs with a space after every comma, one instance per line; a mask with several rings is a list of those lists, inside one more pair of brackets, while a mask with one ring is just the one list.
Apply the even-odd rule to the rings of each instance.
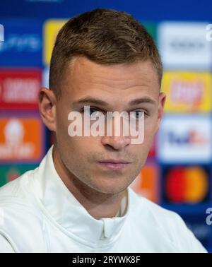
[[[0, 189], [1, 252], [206, 251], [179, 215], [129, 188], [163, 117], [162, 73], [152, 37], [124, 12], [96, 9], [61, 28], [50, 90], [38, 100], [54, 146]], [[143, 112], [143, 142], [123, 132], [70, 136], [70, 112], [88, 118], [85, 107], [91, 115]]]

